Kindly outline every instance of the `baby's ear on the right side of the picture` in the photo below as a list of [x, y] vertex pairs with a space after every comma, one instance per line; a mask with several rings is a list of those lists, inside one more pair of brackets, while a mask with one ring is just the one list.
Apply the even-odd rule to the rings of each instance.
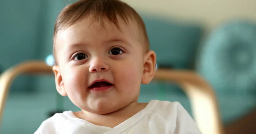
[[145, 53], [144, 56], [144, 69], [143, 69], [143, 77], [142, 84], [148, 84], [154, 77], [156, 66], [156, 53], [152, 50], [149, 50]]

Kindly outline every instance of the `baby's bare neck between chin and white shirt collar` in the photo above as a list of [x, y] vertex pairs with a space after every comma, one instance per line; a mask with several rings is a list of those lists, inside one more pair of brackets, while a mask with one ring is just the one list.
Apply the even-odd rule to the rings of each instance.
[[90, 112], [74, 112], [75, 116], [99, 126], [115, 127], [140, 112], [148, 103], [130, 103], [122, 109], [109, 114], [95, 114]]

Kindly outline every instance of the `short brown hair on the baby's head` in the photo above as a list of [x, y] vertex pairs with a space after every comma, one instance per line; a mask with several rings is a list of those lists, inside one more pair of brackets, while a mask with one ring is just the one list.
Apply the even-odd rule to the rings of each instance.
[[[58, 31], [70, 27], [82, 17], [87, 17], [89, 15], [94, 15], [93, 18], [95, 20], [98, 19], [100, 23], [103, 19], [107, 19], [118, 28], [119, 23], [117, 15], [119, 15], [126, 23], [129, 22], [129, 19], [135, 20], [140, 28], [139, 30], [143, 34], [145, 48], [146, 50], [149, 50], [148, 35], [142, 18], [134, 8], [121, 0], [79, 0], [76, 3], [66, 6], [61, 10], [56, 19], [53, 40], [55, 40]], [[53, 46], [53, 54], [54, 51], [55, 47]]]

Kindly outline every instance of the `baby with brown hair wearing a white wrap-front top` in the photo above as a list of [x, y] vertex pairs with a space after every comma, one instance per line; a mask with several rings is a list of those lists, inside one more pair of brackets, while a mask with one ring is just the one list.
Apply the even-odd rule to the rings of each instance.
[[54, 28], [57, 91], [81, 109], [45, 120], [35, 134], [201, 134], [177, 102], [138, 103], [155, 73], [140, 15], [120, 0], [79, 0]]

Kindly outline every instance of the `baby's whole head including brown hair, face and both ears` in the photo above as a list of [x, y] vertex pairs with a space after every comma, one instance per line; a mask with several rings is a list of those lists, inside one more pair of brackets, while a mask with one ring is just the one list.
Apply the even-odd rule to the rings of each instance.
[[107, 114], [137, 102], [155, 72], [145, 25], [120, 0], [79, 0], [55, 22], [57, 91], [80, 109]]

